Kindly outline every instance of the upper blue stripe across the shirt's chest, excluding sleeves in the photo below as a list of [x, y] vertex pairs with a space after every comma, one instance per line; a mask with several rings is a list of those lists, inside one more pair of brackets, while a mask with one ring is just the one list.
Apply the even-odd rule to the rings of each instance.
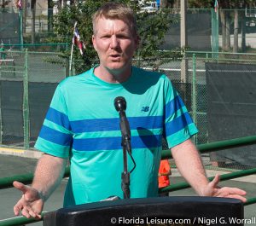
[[[163, 125], [162, 116], [128, 117], [131, 130], [137, 128], [160, 129]], [[70, 122], [74, 133], [119, 130], [119, 118], [84, 119]]]

